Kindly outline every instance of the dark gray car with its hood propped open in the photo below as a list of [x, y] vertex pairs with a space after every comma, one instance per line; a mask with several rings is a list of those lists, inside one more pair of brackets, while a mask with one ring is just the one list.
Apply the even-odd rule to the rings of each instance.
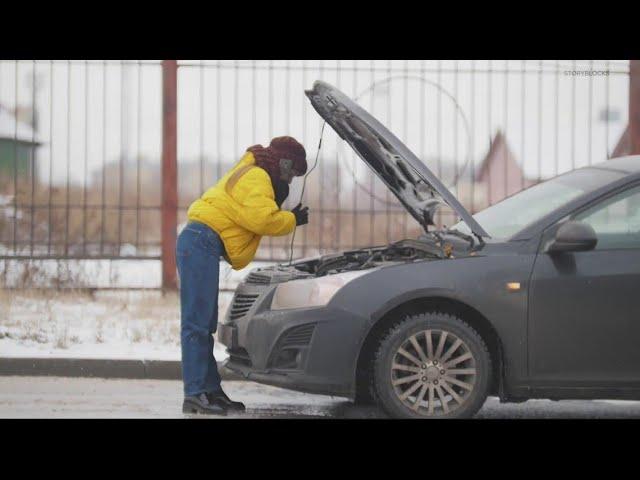
[[[251, 271], [218, 327], [228, 368], [396, 417], [471, 416], [487, 395], [640, 399], [640, 156], [471, 216], [342, 92], [306, 94], [425, 233]], [[461, 222], [438, 231], [443, 204]]]

